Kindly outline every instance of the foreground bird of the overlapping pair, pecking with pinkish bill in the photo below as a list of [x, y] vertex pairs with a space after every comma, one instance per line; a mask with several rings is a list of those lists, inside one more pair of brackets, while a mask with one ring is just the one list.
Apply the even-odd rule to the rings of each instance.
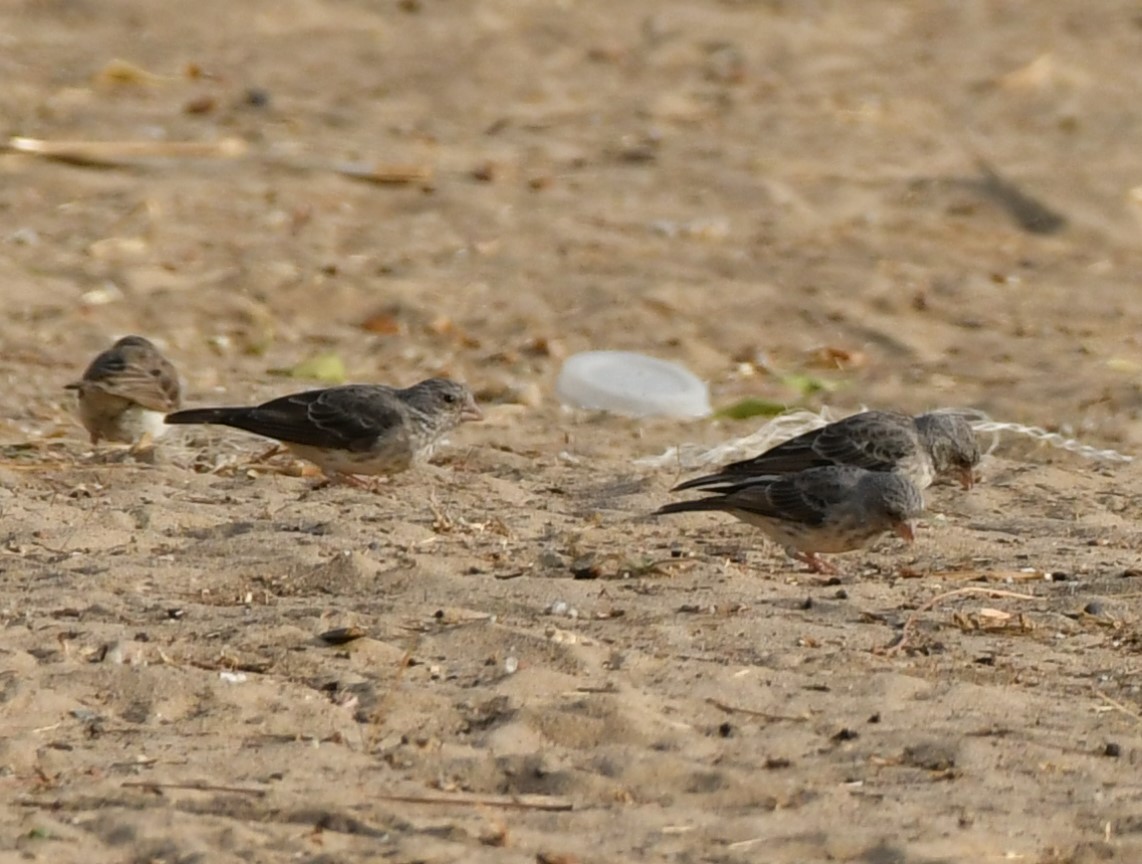
[[654, 515], [702, 510], [755, 525], [813, 572], [835, 573], [820, 552], [860, 549], [887, 531], [911, 542], [924, 499], [903, 474], [831, 465], [750, 478], [708, 498], [665, 504]]

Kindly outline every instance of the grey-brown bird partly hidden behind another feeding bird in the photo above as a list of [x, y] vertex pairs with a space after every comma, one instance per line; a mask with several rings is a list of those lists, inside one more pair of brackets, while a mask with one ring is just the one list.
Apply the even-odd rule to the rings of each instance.
[[863, 411], [790, 438], [753, 459], [732, 462], [715, 474], [679, 483], [674, 490], [716, 490], [749, 477], [830, 465], [898, 471], [920, 490], [938, 477], [954, 477], [964, 488], [971, 488], [979, 462], [979, 443], [962, 414], [934, 411], [911, 417], [895, 411]]

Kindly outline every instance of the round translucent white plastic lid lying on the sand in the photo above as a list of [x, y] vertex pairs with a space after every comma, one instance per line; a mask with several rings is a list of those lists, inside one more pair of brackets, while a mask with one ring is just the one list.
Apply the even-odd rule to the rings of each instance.
[[634, 352], [568, 357], [555, 382], [560, 402], [627, 417], [706, 417], [706, 382], [677, 363]]

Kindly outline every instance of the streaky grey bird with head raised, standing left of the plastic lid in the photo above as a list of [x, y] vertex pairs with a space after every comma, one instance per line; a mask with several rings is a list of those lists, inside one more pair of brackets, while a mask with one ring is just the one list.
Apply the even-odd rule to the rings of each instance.
[[351, 383], [281, 396], [262, 405], [202, 407], [168, 423], [230, 426], [274, 438], [327, 475], [368, 485], [356, 475], [391, 476], [427, 460], [441, 437], [483, 413], [465, 385], [429, 378], [400, 389]]

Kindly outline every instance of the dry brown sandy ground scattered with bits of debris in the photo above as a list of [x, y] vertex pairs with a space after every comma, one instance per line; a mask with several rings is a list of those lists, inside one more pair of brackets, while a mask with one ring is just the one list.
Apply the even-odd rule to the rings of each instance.
[[[759, 419], [552, 395], [632, 348], [1142, 452], [1140, 51], [1124, 0], [0, 5], [6, 134], [248, 146], [0, 154], [0, 857], [1142, 859], [1136, 465], [1005, 437], [821, 583], [644, 518]], [[191, 405], [333, 353], [489, 420], [381, 494], [93, 453], [128, 332]]]

